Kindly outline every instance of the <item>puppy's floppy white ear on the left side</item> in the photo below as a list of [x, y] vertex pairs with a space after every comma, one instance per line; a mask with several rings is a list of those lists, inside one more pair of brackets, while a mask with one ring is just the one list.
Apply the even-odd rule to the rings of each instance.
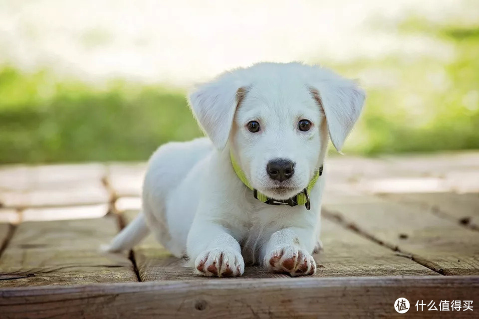
[[242, 81], [226, 73], [200, 85], [189, 96], [193, 114], [217, 149], [223, 149], [228, 142], [236, 108], [245, 92]]

